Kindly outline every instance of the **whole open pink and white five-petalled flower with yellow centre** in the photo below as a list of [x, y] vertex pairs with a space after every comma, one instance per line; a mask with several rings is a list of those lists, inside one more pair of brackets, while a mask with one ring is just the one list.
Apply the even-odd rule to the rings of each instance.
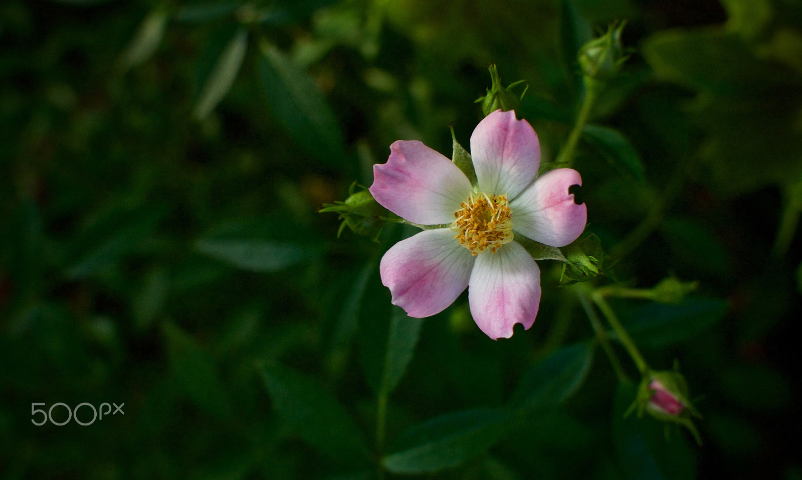
[[471, 135], [476, 188], [444, 155], [418, 141], [398, 140], [374, 165], [370, 191], [379, 204], [415, 224], [439, 225], [400, 241], [379, 272], [392, 302], [410, 317], [442, 312], [468, 287], [476, 325], [491, 337], [529, 329], [541, 301], [541, 271], [514, 239], [565, 246], [585, 229], [587, 209], [571, 185], [579, 172], [558, 168], [537, 176], [537, 134], [513, 111], [494, 111]]

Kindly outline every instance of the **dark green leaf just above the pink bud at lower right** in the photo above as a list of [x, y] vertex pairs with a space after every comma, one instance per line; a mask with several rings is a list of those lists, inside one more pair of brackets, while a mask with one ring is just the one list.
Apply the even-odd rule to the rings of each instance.
[[688, 298], [677, 305], [653, 302], [625, 313], [622, 322], [638, 345], [660, 348], [711, 328], [727, 315], [728, 306], [711, 298]]

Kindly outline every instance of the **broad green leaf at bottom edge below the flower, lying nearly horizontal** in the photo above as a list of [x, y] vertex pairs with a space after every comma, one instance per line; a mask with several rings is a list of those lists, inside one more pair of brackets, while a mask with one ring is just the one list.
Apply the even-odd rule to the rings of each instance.
[[488, 450], [512, 426], [505, 409], [473, 409], [448, 413], [411, 428], [400, 448], [383, 458], [395, 474], [424, 474], [458, 466]]

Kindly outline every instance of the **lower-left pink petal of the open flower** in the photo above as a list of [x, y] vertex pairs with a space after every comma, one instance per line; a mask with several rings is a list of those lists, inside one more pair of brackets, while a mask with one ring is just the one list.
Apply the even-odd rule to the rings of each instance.
[[442, 312], [468, 286], [474, 256], [448, 228], [424, 230], [387, 250], [379, 264], [382, 283], [410, 317]]

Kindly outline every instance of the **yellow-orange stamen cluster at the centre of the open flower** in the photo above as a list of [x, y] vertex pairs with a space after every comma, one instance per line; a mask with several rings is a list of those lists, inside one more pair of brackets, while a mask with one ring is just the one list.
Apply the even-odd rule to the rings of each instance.
[[478, 255], [490, 249], [496, 253], [503, 244], [512, 241], [512, 212], [506, 195], [488, 196], [474, 192], [454, 212], [451, 229], [460, 245]]

